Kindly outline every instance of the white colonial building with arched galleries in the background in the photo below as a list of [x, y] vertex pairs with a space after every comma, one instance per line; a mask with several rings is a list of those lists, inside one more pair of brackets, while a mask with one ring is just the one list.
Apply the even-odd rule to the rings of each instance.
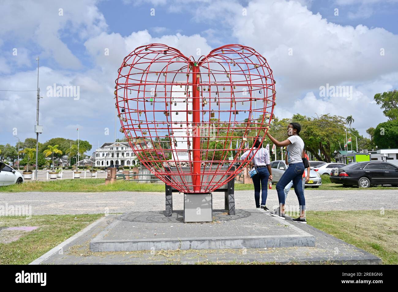
[[[141, 149], [150, 149], [152, 144], [148, 141], [139, 143]], [[95, 152], [95, 165], [107, 167], [112, 164], [134, 166], [139, 161], [131, 149], [129, 142], [107, 142]]]

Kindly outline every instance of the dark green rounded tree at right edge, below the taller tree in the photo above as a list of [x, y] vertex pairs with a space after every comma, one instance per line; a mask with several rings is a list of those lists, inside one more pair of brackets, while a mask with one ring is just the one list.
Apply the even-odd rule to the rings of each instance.
[[398, 148], [398, 119], [377, 125], [373, 142], [380, 148]]

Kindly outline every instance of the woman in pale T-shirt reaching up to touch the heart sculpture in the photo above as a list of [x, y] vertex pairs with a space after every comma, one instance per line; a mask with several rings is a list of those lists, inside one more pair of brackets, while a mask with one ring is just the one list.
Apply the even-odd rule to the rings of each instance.
[[285, 173], [283, 173], [281, 179], [276, 185], [276, 190], [279, 199], [279, 208], [274, 212], [271, 212], [272, 216], [276, 216], [285, 219], [285, 192], [284, 189], [290, 181], [293, 181], [293, 187], [297, 195], [298, 204], [300, 206], [300, 217], [293, 219], [294, 222], [307, 223], [305, 219], [305, 198], [302, 191], [302, 173], [304, 171], [304, 164], [302, 163], [304, 142], [300, 138], [299, 133], [301, 125], [299, 123], [290, 123], [287, 126], [287, 135], [289, 136], [286, 140], [279, 142], [269, 132], [267, 136], [271, 141], [279, 147], [287, 146], [287, 152], [289, 153], [289, 167]]

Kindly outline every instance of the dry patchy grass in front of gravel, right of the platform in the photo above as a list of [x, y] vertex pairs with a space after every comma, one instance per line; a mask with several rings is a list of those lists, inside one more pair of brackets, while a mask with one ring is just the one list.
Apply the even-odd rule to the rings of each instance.
[[398, 264], [398, 210], [307, 211], [308, 224]]

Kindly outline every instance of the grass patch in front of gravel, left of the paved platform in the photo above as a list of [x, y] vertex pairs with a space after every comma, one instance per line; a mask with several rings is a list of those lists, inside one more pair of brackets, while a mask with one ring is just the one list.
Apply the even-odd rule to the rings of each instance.
[[[39, 226], [26, 232], [20, 239], [0, 243], [0, 264], [28, 264], [47, 251], [76, 234], [103, 214], [37, 215], [26, 220], [24, 216], [0, 217], [0, 227]], [[6, 233], [2, 231], [2, 234]]]

